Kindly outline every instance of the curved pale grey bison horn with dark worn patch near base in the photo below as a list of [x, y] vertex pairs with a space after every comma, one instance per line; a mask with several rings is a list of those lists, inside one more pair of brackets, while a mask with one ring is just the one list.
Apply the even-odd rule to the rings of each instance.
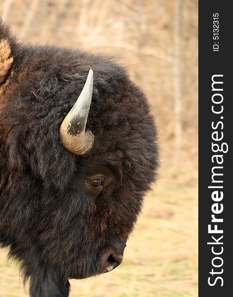
[[92, 90], [93, 71], [90, 69], [81, 94], [60, 125], [60, 140], [63, 147], [77, 155], [90, 150], [94, 142], [94, 135], [91, 131], [85, 130]]

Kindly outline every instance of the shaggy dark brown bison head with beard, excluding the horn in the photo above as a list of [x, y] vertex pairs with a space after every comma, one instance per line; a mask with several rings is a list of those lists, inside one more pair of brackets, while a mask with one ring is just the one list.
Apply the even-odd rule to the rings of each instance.
[[[89, 69], [94, 85], [75, 154], [59, 127]], [[16, 42], [0, 21], [0, 245], [31, 297], [65, 297], [69, 278], [116, 268], [158, 167], [143, 92], [112, 57]]]

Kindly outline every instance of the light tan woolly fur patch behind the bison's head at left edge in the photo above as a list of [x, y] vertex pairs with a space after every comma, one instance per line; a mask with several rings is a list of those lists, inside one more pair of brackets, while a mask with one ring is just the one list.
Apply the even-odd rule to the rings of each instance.
[[0, 83], [3, 83], [13, 62], [10, 57], [10, 45], [7, 39], [0, 40]]

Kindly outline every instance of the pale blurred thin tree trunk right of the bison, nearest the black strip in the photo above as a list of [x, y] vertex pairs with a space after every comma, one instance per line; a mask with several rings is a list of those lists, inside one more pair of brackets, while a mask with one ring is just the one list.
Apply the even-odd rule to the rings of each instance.
[[175, 105], [175, 171], [178, 172], [182, 148], [182, 118], [181, 118], [181, 18], [182, 0], [175, 0], [174, 23], [174, 105]]

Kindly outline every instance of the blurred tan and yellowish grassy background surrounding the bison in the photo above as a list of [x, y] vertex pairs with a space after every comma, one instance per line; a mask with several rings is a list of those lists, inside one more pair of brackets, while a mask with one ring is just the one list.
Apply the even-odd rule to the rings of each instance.
[[[197, 0], [0, 0], [20, 41], [120, 57], [159, 128], [161, 169], [119, 268], [71, 297], [197, 297]], [[0, 297], [26, 297], [0, 251]]]

